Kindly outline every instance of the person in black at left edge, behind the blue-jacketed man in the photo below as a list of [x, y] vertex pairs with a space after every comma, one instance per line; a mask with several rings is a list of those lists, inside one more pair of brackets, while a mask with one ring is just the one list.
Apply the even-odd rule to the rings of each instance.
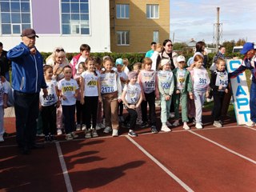
[[0, 74], [6, 78], [8, 82], [10, 82], [10, 74], [9, 74], [9, 68], [10, 68], [10, 60], [7, 59], [7, 51], [2, 50], [2, 42], [0, 42], [0, 67], [1, 72]]

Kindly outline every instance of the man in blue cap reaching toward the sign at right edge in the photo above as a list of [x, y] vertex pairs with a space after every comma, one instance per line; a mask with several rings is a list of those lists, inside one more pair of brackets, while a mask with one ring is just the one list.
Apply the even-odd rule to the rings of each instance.
[[252, 82], [250, 86], [250, 122], [246, 123], [246, 126], [256, 125], [256, 50], [254, 49], [253, 42], [246, 42], [240, 51], [245, 55], [241, 66], [237, 70], [234, 70], [229, 74], [230, 78], [236, 78], [238, 74], [241, 74], [245, 70], [250, 70], [252, 74]]

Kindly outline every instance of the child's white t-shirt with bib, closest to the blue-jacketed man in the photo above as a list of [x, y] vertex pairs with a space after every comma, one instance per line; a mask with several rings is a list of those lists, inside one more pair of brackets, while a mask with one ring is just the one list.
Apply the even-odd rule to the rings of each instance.
[[40, 91], [40, 102], [42, 106], [51, 106], [58, 102], [58, 96], [56, 93], [56, 86], [58, 86], [58, 82], [51, 80], [50, 82], [46, 82], [48, 95], [44, 98], [43, 91]]

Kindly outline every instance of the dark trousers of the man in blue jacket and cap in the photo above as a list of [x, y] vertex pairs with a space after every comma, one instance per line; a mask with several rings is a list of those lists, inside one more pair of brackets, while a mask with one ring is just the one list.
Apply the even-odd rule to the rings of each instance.
[[14, 110], [16, 116], [16, 140], [18, 146], [34, 145], [39, 113], [39, 94], [26, 94], [14, 90]]

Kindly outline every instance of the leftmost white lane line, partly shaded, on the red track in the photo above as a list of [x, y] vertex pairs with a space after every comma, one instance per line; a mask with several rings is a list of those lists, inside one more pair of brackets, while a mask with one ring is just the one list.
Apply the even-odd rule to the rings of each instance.
[[58, 150], [58, 158], [59, 158], [59, 161], [61, 162], [61, 166], [62, 166], [62, 173], [63, 173], [65, 183], [66, 183], [66, 190], [68, 192], [73, 192], [73, 188], [72, 188], [72, 185], [70, 182], [69, 172], [66, 169], [66, 162], [65, 162], [65, 160], [63, 158], [63, 154], [62, 154], [62, 148], [59, 145], [59, 142], [55, 142], [55, 144], [56, 144], [56, 147]]

